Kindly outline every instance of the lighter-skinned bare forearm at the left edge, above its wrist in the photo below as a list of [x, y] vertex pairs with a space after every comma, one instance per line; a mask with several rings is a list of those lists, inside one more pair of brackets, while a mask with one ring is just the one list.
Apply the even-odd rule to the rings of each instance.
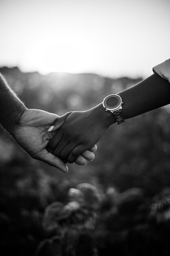
[[0, 123], [12, 133], [26, 109], [0, 74]]

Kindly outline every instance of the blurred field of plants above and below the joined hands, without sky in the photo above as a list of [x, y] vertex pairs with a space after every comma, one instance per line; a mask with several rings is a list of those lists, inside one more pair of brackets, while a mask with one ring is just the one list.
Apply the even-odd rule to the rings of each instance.
[[[0, 72], [27, 108], [58, 115], [92, 108], [142, 80], [97, 74], [44, 76], [18, 67], [1, 67]], [[169, 255], [169, 116], [166, 106], [111, 126], [97, 144], [95, 160], [86, 166], [69, 165], [67, 174], [29, 157], [1, 127], [2, 255]], [[82, 201], [70, 198], [70, 189], [82, 183], [97, 189], [95, 206], [94, 191], [86, 198], [83, 194]], [[46, 224], [44, 211], [54, 202], [62, 206]], [[69, 202], [77, 204], [68, 212]], [[62, 218], [56, 217], [60, 214]]]

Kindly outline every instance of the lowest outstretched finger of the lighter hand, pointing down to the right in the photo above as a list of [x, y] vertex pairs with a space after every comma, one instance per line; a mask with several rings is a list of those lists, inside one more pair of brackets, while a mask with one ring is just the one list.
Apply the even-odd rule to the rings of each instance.
[[43, 157], [41, 157], [39, 160], [45, 162], [46, 164], [49, 164], [51, 166], [55, 166], [56, 168], [60, 169], [63, 173], [68, 172], [68, 167], [62, 160], [55, 155], [47, 152]]

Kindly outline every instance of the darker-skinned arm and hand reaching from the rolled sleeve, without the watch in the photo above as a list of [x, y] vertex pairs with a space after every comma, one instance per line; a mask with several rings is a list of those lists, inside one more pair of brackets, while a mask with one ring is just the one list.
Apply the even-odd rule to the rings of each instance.
[[[118, 94], [124, 102], [124, 119], [128, 119], [169, 104], [170, 83], [158, 74], [153, 74]], [[102, 103], [85, 112], [72, 112], [47, 149], [61, 159], [73, 162], [77, 155], [96, 144], [115, 122], [113, 114], [106, 112]]]

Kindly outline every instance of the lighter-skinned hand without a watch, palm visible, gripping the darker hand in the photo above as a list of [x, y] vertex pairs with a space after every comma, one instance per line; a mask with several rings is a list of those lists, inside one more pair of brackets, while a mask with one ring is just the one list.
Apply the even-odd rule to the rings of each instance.
[[[46, 150], [46, 146], [55, 135], [55, 132], [47, 132], [49, 126], [56, 120], [56, 128], [59, 128], [67, 116], [59, 119], [59, 116], [49, 112], [25, 109], [20, 117], [19, 125], [15, 127], [11, 135], [31, 157], [55, 166], [66, 173], [68, 171], [66, 164], [58, 157], [55, 157], [55, 155], [49, 153]], [[91, 151], [95, 150], [95, 147], [91, 149]], [[92, 154], [89, 151], [84, 152], [84, 156], [90, 159], [93, 158]], [[77, 164], [82, 164], [84, 161], [83, 156], [79, 156], [76, 161]]]

